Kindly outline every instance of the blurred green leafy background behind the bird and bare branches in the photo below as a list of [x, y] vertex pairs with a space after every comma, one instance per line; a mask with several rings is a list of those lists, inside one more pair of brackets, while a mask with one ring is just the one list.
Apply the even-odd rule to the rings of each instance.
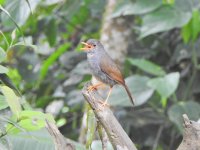
[[182, 114], [200, 118], [199, 0], [0, 4], [0, 149], [52, 149], [44, 120], [33, 126], [35, 116], [52, 119], [47, 113], [77, 149], [101, 149], [81, 93], [91, 75], [80, 42], [90, 38], [104, 44], [136, 98], [133, 108], [116, 86], [109, 104], [138, 149], [176, 149]]

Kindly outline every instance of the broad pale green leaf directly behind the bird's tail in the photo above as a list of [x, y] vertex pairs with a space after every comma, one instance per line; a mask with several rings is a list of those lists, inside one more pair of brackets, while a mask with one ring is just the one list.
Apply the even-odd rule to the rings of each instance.
[[[146, 76], [130, 76], [126, 79], [126, 84], [129, 87], [132, 96], [135, 99], [135, 106], [140, 106], [146, 103], [153, 95], [154, 89], [147, 86], [149, 78]], [[125, 89], [122, 86], [114, 86], [109, 104], [113, 106], [133, 106]]]

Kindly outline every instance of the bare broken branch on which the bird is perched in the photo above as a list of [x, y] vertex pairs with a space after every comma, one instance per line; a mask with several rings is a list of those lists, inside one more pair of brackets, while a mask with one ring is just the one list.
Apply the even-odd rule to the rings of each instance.
[[102, 107], [99, 101], [103, 99], [96, 91], [88, 92], [87, 88], [91, 83], [87, 83], [83, 90], [83, 96], [93, 109], [96, 118], [104, 127], [109, 140], [115, 150], [137, 150], [134, 143], [128, 137], [122, 126], [119, 124], [109, 107]]

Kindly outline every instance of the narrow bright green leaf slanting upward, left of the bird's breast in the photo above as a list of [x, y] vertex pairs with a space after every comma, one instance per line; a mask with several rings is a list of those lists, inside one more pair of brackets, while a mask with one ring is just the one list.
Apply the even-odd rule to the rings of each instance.
[[49, 67], [59, 58], [60, 55], [62, 55], [65, 51], [67, 51], [70, 46], [71, 46], [70, 43], [61, 45], [53, 54], [51, 54], [51, 56], [47, 58], [47, 60], [44, 61], [40, 71], [41, 79], [43, 79], [46, 76]]

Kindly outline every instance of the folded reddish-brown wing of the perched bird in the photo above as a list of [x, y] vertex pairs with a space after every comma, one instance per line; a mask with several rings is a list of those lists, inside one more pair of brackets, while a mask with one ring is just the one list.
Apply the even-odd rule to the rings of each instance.
[[125, 85], [122, 73], [120, 72], [114, 61], [107, 54], [104, 55], [103, 58], [101, 58], [100, 68], [104, 73], [109, 76], [109, 78], [115, 80], [122, 85]]

